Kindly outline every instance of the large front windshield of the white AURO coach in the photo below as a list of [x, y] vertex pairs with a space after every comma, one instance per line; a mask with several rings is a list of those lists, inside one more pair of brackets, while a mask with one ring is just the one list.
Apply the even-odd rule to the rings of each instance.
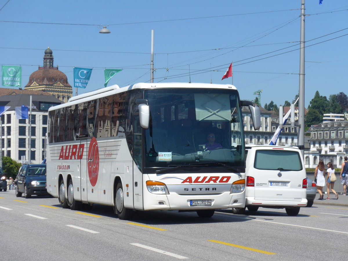
[[144, 167], [214, 164], [245, 166], [237, 90], [147, 89], [150, 126]]

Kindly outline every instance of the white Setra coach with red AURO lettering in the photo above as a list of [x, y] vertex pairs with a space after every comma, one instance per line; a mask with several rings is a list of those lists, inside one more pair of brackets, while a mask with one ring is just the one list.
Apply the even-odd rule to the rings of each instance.
[[117, 85], [51, 107], [47, 191], [63, 208], [113, 206], [195, 211], [245, 205], [245, 146], [240, 107], [254, 128], [260, 108], [232, 85]]

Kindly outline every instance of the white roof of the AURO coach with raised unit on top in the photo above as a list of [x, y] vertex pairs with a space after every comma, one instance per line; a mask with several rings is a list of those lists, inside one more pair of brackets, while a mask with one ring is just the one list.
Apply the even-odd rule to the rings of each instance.
[[127, 90], [131, 90], [131, 89], [153, 89], [153, 88], [209, 88], [209, 89], [216, 88], [216, 89], [236, 90], [236, 87], [231, 84], [207, 84], [207, 83], [188, 83], [188, 82], [155, 82], [155, 83], [140, 82], [137, 84], [128, 85], [121, 88], [118, 85], [112, 85], [109, 87], [94, 90], [92, 92], [73, 96], [69, 99], [67, 103], [50, 107], [48, 111], [64, 108], [65, 106], [94, 100], [97, 98], [101, 98], [101, 97], [116, 94], [116, 93], [126, 92]]

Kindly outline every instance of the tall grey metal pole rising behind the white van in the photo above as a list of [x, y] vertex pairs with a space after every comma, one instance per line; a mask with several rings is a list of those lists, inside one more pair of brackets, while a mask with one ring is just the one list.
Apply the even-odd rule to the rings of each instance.
[[[300, 82], [299, 82], [299, 136], [298, 145], [304, 146], [304, 0], [301, 0], [301, 32], [300, 32]], [[304, 148], [301, 149], [304, 157]]]

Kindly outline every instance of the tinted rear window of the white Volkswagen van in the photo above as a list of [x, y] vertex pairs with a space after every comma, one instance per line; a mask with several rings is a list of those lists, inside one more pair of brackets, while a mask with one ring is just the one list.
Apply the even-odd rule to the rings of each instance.
[[254, 167], [280, 171], [300, 171], [300, 153], [288, 150], [256, 150]]

